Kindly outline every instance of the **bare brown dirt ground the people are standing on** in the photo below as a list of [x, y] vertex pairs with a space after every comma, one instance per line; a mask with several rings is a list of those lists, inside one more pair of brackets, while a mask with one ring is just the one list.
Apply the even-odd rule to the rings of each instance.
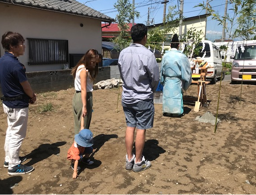
[[[118, 101], [118, 88], [94, 90], [90, 130], [94, 134], [91, 156], [94, 165], [81, 164], [72, 179], [67, 150], [73, 142], [72, 97], [74, 88], [40, 93], [29, 106], [27, 136], [20, 155], [31, 173], [9, 176], [0, 166], [2, 194], [255, 194], [256, 193], [256, 85], [222, 82], [219, 115], [214, 125], [195, 118], [207, 111], [216, 115], [220, 82], [207, 85], [208, 107], [193, 111], [185, 104], [185, 115], [162, 115], [155, 104], [154, 127], [146, 133], [144, 155], [152, 167], [140, 173], [125, 169], [126, 122]], [[197, 85], [184, 93], [196, 97]], [[46, 103], [53, 111], [40, 112]], [[7, 121], [0, 109], [0, 156], [4, 163]]]

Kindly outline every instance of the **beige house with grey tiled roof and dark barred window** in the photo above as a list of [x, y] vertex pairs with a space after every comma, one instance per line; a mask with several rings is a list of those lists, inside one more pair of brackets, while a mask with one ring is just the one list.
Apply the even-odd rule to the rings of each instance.
[[19, 60], [27, 72], [72, 67], [71, 59], [88, 49], [101, 53], [101, 23], [114, 21], [76, 0], [0, 0], [0, 18], [0, 36], [23, 35], [26, 49]]

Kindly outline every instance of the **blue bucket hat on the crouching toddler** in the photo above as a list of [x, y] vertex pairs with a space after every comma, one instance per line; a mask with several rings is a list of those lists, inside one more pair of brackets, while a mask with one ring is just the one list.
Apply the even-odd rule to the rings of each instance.
[[75, 135], [75, 142], [82, 147], [90, 147], [93, 145], [93, 136], [89, 129], [82, 129]]

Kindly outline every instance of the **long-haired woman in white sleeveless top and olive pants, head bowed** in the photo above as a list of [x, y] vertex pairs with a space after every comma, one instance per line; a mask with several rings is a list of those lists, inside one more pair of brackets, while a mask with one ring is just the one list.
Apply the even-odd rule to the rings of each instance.
[[92, 114], [93, 81], [98, 74], [101, 56], [95, 49], [88, 50], [71, 71], [75, 78], [76, 93], [73, 97], [72, 108], [75, 120], [75, 134], [81, 129], [81, 117], [84, 117], [84, 129], [89, 129]]

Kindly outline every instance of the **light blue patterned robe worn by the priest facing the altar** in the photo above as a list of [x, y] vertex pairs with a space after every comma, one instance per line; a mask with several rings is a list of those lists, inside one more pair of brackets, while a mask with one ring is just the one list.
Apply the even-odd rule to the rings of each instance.
[[166, 51], [162, 58], [160, 82], [163, 84], [163, 113], [182, 114], [183, 89], [192, 80], [189, 59], [177, 49]]

